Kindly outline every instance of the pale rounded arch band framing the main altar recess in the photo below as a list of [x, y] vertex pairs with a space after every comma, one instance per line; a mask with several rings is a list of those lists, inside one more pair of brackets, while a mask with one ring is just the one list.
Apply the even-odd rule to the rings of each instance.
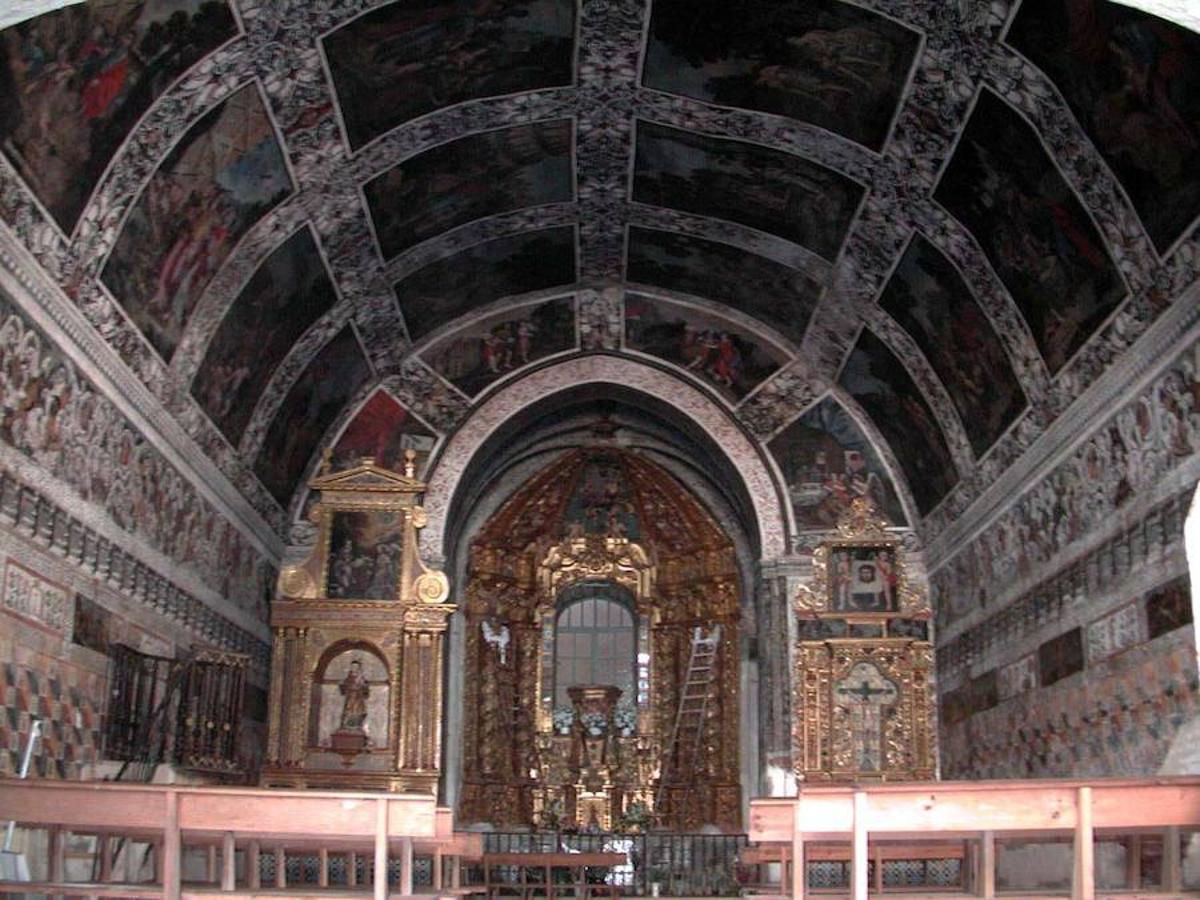
[[641, 391], [670, 404], [708, 433], [740, 473], [754, 504], [763, 559], [786, 552], [785, 517], [779, 490], [755, 445], [715, 402], [680, 379], [649, 366], [616, 356], [583, 356], [539, 370], [506, 385], [467, 419], [446, 444], [425, 493], [428, 524], [421, 532], [426, 559], [445, 557], [445, 516], [467, 466], [484, 442], [522, 409], [581, 384], [611, 383]]

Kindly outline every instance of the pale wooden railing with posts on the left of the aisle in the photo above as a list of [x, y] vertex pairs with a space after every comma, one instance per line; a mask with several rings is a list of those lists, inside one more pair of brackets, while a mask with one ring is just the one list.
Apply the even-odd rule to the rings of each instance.
[[[434, 888], [442, 888], [442, 858], [479, 857], [479, 835], [455, 834], [450, 810], [424, 794], [352, 793], [343, 791], [278, 791], [184, 787], [113, 782], [22, 781], [0, 779], [0, 820], [49, 830], [49, 864], [44, 882], [0, 882], [0, 894], [44, 893], [89, 896], [164, 896], [168, 900], [239, 892], [236, 856], [244, 854], [242, 887], [259, 889], [259, 854], [276, 856], [275, 888], [289, 887], [283, 858], [288, 852], [373, 857], [373, 895], [388, 893], [388, 860], [398, 857], [398, 893], [413, 893], [413, 854], [434, 857]], [[97, 835], [100, 882], [65, 881], [67, 833]], [[154, 850], [154, 876], [137, 882], [113, 881], [109, 847], [116, 839]], [[182, 883], [185, 847], [205, 847], [209, 887]], [[220, 875], [217, 859], [220, 858]], [[350, 866], [353, 871], [353, 865]], [[452, 866], [457, 871], [457, 865]], [[328, 869], [319, 887], [328, 888]], [[347, 893], [353, 893], [353, 876]], [[244, 892], [241, 892], [242, 895]], [[289, 890], [288, 896], [302, 896]], [[322, 892], [328, 895], [328, 890]]]

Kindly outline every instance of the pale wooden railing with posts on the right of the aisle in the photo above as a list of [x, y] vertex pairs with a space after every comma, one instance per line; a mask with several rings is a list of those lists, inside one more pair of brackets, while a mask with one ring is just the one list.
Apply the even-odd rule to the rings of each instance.
[[1097, 835], [1139, 832], [1168, 838], [1163, 889], [1171, 896], [1200, 895], [1184, 894], [1180, 880], [1180, 828], [1198, 827], [1200, 778], [804, 786], [799, 797], [750, 804], [750, 840], [784, 864], [781, 890], [794, 900], [806, 895], [803, 860], [810, 842], [848, 844], [850, 896], [865, 900], [872, 841], [907, 841], [919, 858], [923, 845], [967, 840], [979, 848], [971, 895], [994, 898], [997, 838], [1063, 836], [1074, 844], [1070, 895], [1092, 900], [1098, 896]]

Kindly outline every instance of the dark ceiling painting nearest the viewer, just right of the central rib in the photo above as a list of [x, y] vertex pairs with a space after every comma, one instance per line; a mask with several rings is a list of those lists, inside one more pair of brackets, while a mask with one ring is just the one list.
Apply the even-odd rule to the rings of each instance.
[[838, 0], [658, 0], [643, 83], [820, 125], [880, 149], [916, 32]]

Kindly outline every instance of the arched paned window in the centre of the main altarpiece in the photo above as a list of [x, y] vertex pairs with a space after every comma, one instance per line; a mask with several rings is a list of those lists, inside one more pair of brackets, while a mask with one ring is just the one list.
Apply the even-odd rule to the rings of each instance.
[[636, 702], [634, 613], [606, 587], [572, 592], [575, 596], [559, 608], [554, 629], [556, 707], [569, 706], [566, 689], [578, 684], [612, 684], [623, 691], [623, 702]]

